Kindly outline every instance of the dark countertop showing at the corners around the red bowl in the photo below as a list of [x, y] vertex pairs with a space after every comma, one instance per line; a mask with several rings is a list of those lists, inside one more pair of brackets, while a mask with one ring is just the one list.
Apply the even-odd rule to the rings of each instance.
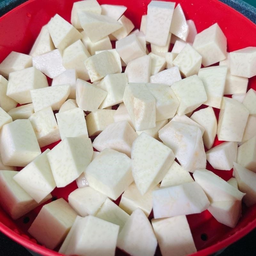
[[[13, 9], [26, 0], [0, 0], [0, 16]], [[207, 1], [207, 0], [206, 0]], [[230, 5], [247, 18], [256, 23], [256, 0], [220, 0]], [[176, 2], [179, 2], [178, 0]], [[246, 3], [245, 3], [246, 2]], [[247, 4], [248, 3], [248, 4]], [[251, 4], [251, 5], [249, 5]], [[256, 229], [244, 236], [225, 250], [215, 253], [214, 256], [255, 256], [256, 255]], [[12, 241], [4, 234], [0, 233], [0, 256], [31, 256], [31, 254], [21, 245]]]

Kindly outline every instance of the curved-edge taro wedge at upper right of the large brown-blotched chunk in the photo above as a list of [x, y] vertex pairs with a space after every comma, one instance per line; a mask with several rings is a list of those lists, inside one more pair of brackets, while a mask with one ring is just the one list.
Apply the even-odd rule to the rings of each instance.
[[212, 148], [217, 134], [217, 119], [212, 107], [200, 109], [194, 112], [190, 118], [204, 127], [204, 146], [208, 149]]

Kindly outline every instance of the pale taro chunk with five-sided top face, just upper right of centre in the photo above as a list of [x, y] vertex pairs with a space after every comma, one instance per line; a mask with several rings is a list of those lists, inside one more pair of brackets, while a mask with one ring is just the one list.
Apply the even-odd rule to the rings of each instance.
[[173, 83], [171, 88], [180, 100], [179, 116], [194, 111], [207, 100], [204, 84], [196, 75]]

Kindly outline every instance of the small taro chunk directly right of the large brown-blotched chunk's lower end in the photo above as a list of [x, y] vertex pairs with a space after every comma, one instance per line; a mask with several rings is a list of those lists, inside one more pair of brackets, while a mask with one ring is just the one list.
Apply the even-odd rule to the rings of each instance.
[[231, 170], [236, 162], [237, 142], [225, 141], [206, 151], [206, 159], [214, 169]]

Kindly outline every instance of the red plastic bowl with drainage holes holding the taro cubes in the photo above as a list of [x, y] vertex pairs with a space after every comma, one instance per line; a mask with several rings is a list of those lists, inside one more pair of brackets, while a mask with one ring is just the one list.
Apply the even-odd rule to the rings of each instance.
[[[128, 7], [125, 15], [130, 18], [136, 28], [140, 27], [141, 15], [147, 13], [150, 0], [98, 0], [100, 4], [123, 4]], [[28, 53], [36, 39], [41, 27], [50, 18], [58, 13], [70, 21], [70, 13], [75, 0], [30, 0], [13, 9], [0, 18], [0, 61], [11, 52]], [[217, 0], [179, 0], [186, 18], [195, 21], [197, 31], [200, 32], [210, 25], [218, 22], [220, 28], [228, 39], [228, 52], [256, 46], [256, 26], [239, 12]], [[249, 87], [256, 89], [256, 77], [249, 80]], [[216, 111], [218, 115], [218, 111]], [[216, 140], [215, 145], [219, 142]], [[56, 144], [56, 143], [55, 143]], [[52, 148], [54, 145], [42, 148]], [[207, 165], [207, 169], [213, 170]], [[225, 180], [232, 176], [231, 171], [213, 170]], [[53, 197], [63, 197], [67, 200], [68, 194], [76, 189], [73, 182], [65, 188], [54, 189]], [[36, 240], [28, 235], [27, 230], [35, 219], [42, 206], [26, 214], [19, 220], [13, 221], [0, 208], [0, 231], [12, 238], [17, 243], [42, 255], [60, 255], [37, 244]], [[246, 208], [243, 205], [243, 217], [236, 228], [228, 228], [217, 222], [208, 211], [187, 216], [192, 235], [198, 250], [193, 255], [209, 255], [240, 239], [256, 227], [256, 205]], [[24, 221], [24, 218], [26, 220]], [[29, 220], [29, 221], [28, 221]], [[27, 222], [28, 223], [25, 223]], [[156, 252], [160, 255], [159, 251]], [[124, 255], [119, 250], [116, 255]]]

